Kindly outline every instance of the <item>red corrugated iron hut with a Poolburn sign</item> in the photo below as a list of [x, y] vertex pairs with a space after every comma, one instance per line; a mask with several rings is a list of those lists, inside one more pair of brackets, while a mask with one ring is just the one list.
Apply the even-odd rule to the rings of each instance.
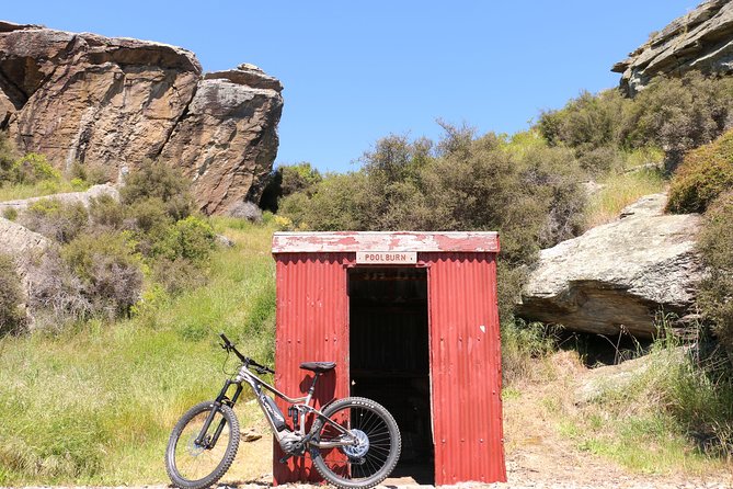
[[[382, 403], [402, 434], [393, 477], [505, 481], [497, 252], [495, 232], [275, 234], [276, 387], [295, 395], [300, 362], [334, 361], [317, 407]], [[309, 457], [282, 455], [276, 484], [320, 480]]]

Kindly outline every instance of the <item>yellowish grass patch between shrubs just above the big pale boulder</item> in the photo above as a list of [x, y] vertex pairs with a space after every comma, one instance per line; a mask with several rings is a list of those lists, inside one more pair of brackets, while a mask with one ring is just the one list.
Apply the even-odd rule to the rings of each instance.
[[588, 229], [615, 220], [623, 207], [644, 195], [664, 192], [667, 185], [661, 171], [649, 169], [610, 174], [598, 183], [603, 187], [591, 196], [585, 211]]

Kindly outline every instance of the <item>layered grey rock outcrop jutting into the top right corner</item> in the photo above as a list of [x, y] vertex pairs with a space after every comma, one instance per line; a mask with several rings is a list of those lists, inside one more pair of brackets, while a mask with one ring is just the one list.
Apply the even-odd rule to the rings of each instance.
[[733, 3], [709, 0], [674, 20], [611, 71], [622, 73], [621, 89], [630, 96], [658, 75], [733, 72]]

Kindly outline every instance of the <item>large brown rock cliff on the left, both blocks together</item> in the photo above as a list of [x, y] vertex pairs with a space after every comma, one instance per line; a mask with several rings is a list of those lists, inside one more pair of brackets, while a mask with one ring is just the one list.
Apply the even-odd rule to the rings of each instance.
[[256, 201], [277, 152], [282, 86], [251, 65], [202, 75], [165, 44], [0, 22], [0, 128], [57, 168], [116, 180], [146, 158], [181, 167], [208, 212]]

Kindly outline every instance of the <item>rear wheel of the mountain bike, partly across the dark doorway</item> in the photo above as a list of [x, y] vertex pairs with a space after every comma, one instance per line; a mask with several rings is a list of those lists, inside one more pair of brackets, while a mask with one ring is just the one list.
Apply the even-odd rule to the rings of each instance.
[[[400, 458], [400, 430], [392, 414], [370, 399], [350, 397], [329, 406], [323, 414], [358, 440], [356, 445], [311, 448], [316, 469], [340, 488], [370, 488], [385, 480]], [[320, 421], [314, 441], [339, 444], [342, 431]]]

